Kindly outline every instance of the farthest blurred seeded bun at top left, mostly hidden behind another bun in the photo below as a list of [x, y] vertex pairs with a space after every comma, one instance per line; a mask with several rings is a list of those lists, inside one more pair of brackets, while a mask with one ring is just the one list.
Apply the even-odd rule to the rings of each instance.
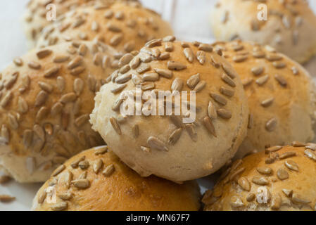
[[27, 4], [27, 10], [23, 18], [25, 34], [27, 35], [27, 39], [30, 41], [30, 47], [34, 47], [36, 45], [37, 39], [44, 27], [51, 25], [55, 21], [49, 21], [49, 18], [53, 16], [53, 13], [56, 13], [57, 20], [61, 20], [63, 19], [64, 13], [75, 9], [78, 6], [87, 7], [93, 6], [96, 2], [101, 5], [103, 3], [113, 1], [114, 0], [30, 0]]

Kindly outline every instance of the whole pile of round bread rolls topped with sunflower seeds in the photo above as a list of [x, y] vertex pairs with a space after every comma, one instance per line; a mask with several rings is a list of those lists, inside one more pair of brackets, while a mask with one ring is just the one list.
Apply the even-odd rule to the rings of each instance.
[[[36, 48], [0, 73], [0, 167], [45, 181], [32, 210], [316, 210], [316, 86], [299, 64], [316, 16], [303, 0], [220, 0], [211, 18], [203, 44], [138, 1], [30, 1]], [[177, 92], [180, 115], [168, 96], [122, 112], [122, 94]], [[201, 199], [195, 180], [217, 171]]]

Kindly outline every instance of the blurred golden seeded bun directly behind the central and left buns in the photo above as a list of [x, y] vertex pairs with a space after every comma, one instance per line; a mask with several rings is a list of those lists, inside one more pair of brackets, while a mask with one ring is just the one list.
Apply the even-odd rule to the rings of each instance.
[[160, 15], [137, 2], [118, 1], [96, 6], [77, 8], [60, 22], [46, 27], [37, 46], [97, 39], [118, 51], [131, 52], [139, 50], [148, 40], [172, 34], [170, 25]]

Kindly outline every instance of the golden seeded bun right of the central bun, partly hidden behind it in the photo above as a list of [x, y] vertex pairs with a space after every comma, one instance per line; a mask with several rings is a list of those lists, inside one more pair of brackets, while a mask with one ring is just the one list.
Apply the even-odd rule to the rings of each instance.
[[270, 46], [251, 42], [218, 42], [244, 84], [251, 123], [236, 157], [252, 150], [312, 141], [315, 123], [315, 83], [298, 63]]

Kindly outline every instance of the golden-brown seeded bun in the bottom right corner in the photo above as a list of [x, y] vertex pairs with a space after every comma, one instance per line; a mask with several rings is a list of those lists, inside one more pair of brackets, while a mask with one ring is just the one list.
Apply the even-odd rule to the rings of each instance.
[[204, 194], [204, 210], [316, 210], [315, 149], [294, 141], [236, 160]]

